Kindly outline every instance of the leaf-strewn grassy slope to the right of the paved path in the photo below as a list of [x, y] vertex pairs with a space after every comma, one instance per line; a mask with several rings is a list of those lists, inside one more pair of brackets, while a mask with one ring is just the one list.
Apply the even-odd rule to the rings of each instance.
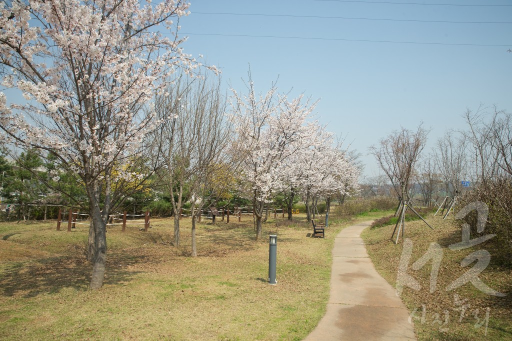
[[[407, 274], [416, 279], [421, 288], [416, 290], [404, 286], [401, 298], [411, 311], [418, 339], [512, 339], [512, 270], [496, 263], [492, 239], [470, 248], [452, 251], [448, 245], [460, 242], [462, 238], [453, 217], [442, 220], [442, 217], [430, 214], [426, 220], [435, 228], [434, 231], [419, 220], [406, 222], [405, 231], [405, 237], [413, 243]], [[367, 244], [368, 254], [379, 274], [395, 287], [403, 239], [400, 236], [399, 243], [395, 245], [390, 240], [393, 229], [394, 225], [366, 229], [361, 237]], [[413, 268], [413, 263], [427, 253], [431, 243], [438, 243], [442, 250], [433, 292], [430, 289], [432, 259], [427, 260], [419, 269], [419, 266]], [[506, 297], [486, 294], [471, 282], [447, 290], [454, 281], [475, 266], [476, 261], [465, 267], [461, 266], [461, 261], [478, 250], [490, 253], [490, 264], [478, 275], [478, 279], [490, 288], [507, 294]]]

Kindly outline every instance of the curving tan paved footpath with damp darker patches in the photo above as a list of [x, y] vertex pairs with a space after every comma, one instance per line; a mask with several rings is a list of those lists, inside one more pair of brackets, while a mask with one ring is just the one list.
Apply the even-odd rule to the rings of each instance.
[[371, 221], [349, 226], [334, 240], [327, 312], [306, 340], [415, 340], [409, 311], [375, 270], [359, 237]]

